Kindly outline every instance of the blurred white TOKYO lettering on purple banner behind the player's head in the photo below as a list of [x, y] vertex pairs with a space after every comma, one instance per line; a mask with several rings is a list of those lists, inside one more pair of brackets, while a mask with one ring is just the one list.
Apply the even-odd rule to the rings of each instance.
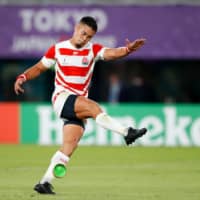
[[24, 32], [38, 31], [68, 31], [72, 32], [82, 16], [91, 15], [97, 19], [99, 32], [103, 31], [108, 24], [108, 17], [102, 9], [21, 9], [19, 16], [22, 19]]

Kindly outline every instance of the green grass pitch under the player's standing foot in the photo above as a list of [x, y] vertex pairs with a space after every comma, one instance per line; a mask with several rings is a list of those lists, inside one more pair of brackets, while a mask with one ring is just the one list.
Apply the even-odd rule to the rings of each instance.
[[33, 186], [57, 146], [0, 145], [2, 200], [199, 200], [200, 148], [79, 147], [55, 196]]

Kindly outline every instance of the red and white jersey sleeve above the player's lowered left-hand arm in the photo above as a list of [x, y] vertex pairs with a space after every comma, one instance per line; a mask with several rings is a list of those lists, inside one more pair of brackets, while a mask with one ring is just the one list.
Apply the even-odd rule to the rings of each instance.
[[55, 63], [55, 45], [51, 46], [41, 59], [43, 65], [47, 68], [51, 68]]

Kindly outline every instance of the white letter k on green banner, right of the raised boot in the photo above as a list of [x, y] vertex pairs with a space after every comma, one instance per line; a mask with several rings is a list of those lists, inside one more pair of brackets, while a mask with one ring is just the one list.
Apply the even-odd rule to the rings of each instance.
[[166, 145], [176, 146], [190, 146], [191, 142], [187, 135], [186, 128], [192, 122], [190, 116], [178, 117], [176, 115], [175, 107], [164, 108], [166, 119]]

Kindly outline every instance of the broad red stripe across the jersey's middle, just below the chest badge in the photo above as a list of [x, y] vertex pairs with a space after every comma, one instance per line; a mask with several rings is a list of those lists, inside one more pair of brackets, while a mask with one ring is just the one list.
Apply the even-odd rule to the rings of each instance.
[[63, 72], [65, 76], [86, 76], [88, 71], [90, 70], [90, 67], [93, 63], [93, 59], [91, 60], [88, 67], [76, 67], [76, 66], [62, 66], [57, 61], [58, 67]]

